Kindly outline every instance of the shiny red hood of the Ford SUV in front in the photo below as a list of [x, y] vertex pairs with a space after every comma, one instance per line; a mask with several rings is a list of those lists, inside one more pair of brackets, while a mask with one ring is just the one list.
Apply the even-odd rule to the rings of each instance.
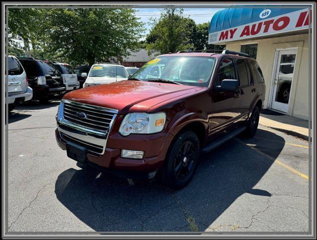
[[195, 94], [204, 87], [123, 80], [89, 86], [67, 93], [64, 98], [119, 110], [146, 112], [152, 106], [180, 95]]

